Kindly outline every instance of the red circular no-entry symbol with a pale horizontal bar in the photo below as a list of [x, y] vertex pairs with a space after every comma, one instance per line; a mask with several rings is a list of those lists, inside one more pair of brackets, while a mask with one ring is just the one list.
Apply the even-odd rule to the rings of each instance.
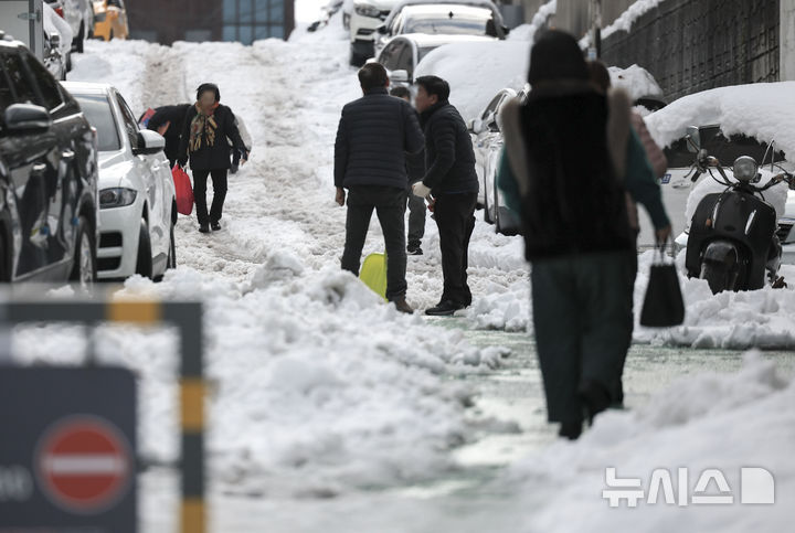
[[64, 511], [106, 511], [126, 493], [132, 476], [130, 446], [113, 424], [92, 416], [65, 418], [41, 439], [40, 486]]

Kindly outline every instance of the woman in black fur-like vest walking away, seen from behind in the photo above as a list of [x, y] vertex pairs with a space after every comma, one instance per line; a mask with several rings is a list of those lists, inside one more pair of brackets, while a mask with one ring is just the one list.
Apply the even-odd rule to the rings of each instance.
[[521, 214], [532, 263], [538, 356], [550, 422], [575, 439], [619, 398], [637, 256], [626, 193], [670, 225], [629, 104], [589, 79], [576, 40], [549, 31], [531, 51], [526, 104], [502, 111], [498, 185]]

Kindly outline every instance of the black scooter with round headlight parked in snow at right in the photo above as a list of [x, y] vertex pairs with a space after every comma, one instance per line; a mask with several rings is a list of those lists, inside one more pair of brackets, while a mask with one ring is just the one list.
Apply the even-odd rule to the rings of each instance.
[[[776, 236], [777, 216], [764, 192], [781, 183], [795, 189], [795, 179], [776, 166], [783, 172], [766, 185], [757, 186], [762, 179], [759, 164], [742, 156], [734, 161], [731, 180], [721, 162], [700, 148], [698, 128], [688, 128], [689, 148], [698, 153], [692, 181], [709, 173], [727, 189], [708, 194], [696, 209], [687, 245], [688, 276], [706, 279], [712, 294], [761, 289], [765, 278], [773, 287], [785, 287], [784, 279], [778, 277], [782, 245]], [[713, 169], [720, 177], [714, 175]]]

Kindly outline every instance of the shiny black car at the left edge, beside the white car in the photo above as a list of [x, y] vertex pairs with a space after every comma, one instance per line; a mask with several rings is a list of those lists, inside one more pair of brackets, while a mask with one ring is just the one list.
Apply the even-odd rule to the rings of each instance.
[[0, 280], [96, 279], [97, 137], [77, 102], [0, 32]]

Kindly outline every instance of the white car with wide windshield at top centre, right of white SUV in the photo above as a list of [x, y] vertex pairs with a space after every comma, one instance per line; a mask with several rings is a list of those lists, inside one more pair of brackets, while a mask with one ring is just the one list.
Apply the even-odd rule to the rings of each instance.
[[505, 39], [508, 29], [490, 0], [404, 0], [377, 29], [375, 55], [386, 42], [406, 33], [485, 35]]

